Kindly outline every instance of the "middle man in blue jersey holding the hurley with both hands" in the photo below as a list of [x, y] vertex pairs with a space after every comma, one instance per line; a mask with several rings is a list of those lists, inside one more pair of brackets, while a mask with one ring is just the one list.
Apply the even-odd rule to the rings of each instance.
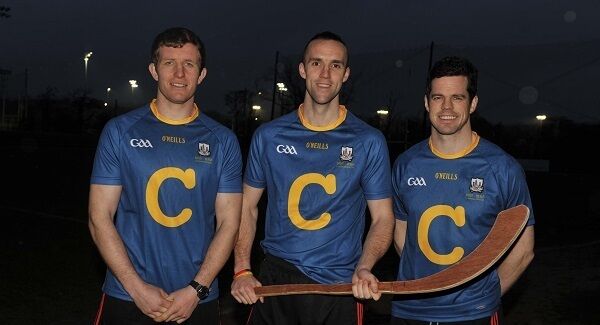
[[[315, 35], [299, 64], [306, 81], [298, 110], [254, 134], [244, 176], [232, 295], [253, 304], [254, 287], [352, 282], [357, 298], [379, 299], [371, 273], [392, 239], [394, 218], [387, 145], [382, 134], [339, 104], [350, 75], [348, 53], [331, 32]], [[250, 271], [257, 204], [268, 193], [265, 260]], [[364, 247], [365, 209], [371, 214]], [[357, 324], [354, 297], [319, 295], [260, 299], [250, 324]]]

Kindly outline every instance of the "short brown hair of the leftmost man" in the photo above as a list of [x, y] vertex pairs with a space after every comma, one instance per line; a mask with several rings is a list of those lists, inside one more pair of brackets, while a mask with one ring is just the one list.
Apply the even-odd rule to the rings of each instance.
[[183, 47], [185, 44], [191, 43], [198, 48], [200, 53], [200, 70], [206, 66], [206, 48], [204, 43], [198, 38], [194, 32], [184, 27], [173, 27], [162, 31], [156, 35], [152, 42], [150, 50], [150, 61], [154, 64], [158, 63], [158, 49], [161, 46], [167, 47]]

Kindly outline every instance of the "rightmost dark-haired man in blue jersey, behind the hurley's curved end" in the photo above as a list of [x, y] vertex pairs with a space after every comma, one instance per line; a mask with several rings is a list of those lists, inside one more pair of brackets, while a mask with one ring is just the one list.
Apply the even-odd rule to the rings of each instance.
[[[400, 253], [398, 280], [437, 273], [473, 251], [497, 214], [531, 198], [517, 161], [471, 129], [477, 69], [446, 57], [429, 73], [425, 108], [431, 136], [396, 160], [392, 171]], [[396, 297], [391, 324], [500, 324], [500, 297], [533, 259], [534, 216], [497, 267], [466, 285], [423, 296]]]

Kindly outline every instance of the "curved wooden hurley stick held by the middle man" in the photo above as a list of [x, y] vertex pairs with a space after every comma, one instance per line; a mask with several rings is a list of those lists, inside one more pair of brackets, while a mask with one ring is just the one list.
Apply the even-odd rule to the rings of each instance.
[[[436, 292], [457, 287], [489, 269], [517, 240], [529, 217], [529, 209], [519, 205], [501, 211], [490, 233], [477, 248], [452, 266], [430, 276], [410, 280], [380, 282], [379, 292], [413, 294]], [[351, 295], [352, 284], [284, 284], [254, 288], [257, 296], [271, 297], [300, 294]]]

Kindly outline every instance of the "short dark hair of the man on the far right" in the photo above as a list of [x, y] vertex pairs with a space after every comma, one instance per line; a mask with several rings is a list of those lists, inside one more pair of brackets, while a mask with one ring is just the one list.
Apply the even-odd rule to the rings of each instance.
[[467, 77], [467, 92], [469, 100], [477, 96], [477, 68], [469, 60], [458, 56], [447, 56], [437, 61], [427, 77], [425, 95], [431, 94], [431, 81], [441, 77], [465, 76]]

